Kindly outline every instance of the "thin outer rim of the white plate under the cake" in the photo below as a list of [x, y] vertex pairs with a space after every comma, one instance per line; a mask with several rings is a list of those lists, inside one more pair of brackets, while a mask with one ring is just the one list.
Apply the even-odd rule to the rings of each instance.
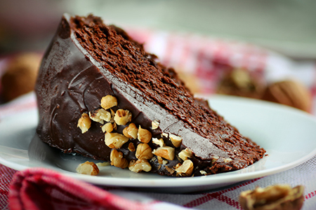
[[[310, 113], [306, 113], [305, 111], [301, 111], [290, 106], [284, 106], [282, 104], [276, 104], [272, 102], [264, 102], [258, 99], [249, 99], [249, 98], [242, 98], [242, 97], [233, 97], [233, 96], [226, 96], [226, 95], [219, 95], [219, 94], [212, 94], [212, 95], [199, 95], [204, 99], [208, 100], [234, 100], [235, 102], [251, 102], [256, 104], [257, 106], [270, 106], [272, 109], [282, 109], [283, 111], [290, 111], [291, 113], [298, 114], [310, 120], [313, 120], [316, 123], [316, 118]], [[211, 102], [210, 102], [211, 104]], [[29, 113], [32, 111], [36, 111], [37, 109], [31, 109], [25, 111], [25, 113]], [[9, 116], [10, 117], [10, 116]], [[225, 117], [225, 116], [224, 116]], [[2, 122], [4, 120], [1, 120]], [[1, 122], [0, 122], [1, 123]], [[0, 134], [1, 136], [1, 134]], [[1, 153], [1, 152], [0, 152]], [[244, 174], [232, 174], [234, 172], [226, 172], [223, 174], [213, 174], [209, 176], [197, 176], [197, 177], [163, 177], [159, 179], [139, 179], [139, 178], [120, 178], [120, 177], [112, 177], [112, 176], [87, 176], [83, 174], [76, 174], [74, 172], [67, 172], [62, 169], [57, 169], [57, 172], [64, 174], [66, 176], [70, 176], [74, 179], [79, 179], [81, 181], [86, 181], [88, 183], [93, 183], [101, 186], [119, 186], [119, 187], [138, 187], [138, 188], [168, 188], [168, 187], [192, 187], [192, 186], [211, 186], [213, 184], [218, 183], [237, 183], [239, 181], [246, 181], [249, 179], [256, 179], [263, 176], [268, 176], [272, 174], [277, 174], [279, 172], [284, 172], [288, 169], [294, 168], [298, 165], [301, 165], [303, 162], [310, 160], [312, 157], [316, 155], [316, 148], [314, 148], [310, 153], [303, 155], [303, 157], [299, 158], [294, 162], [289, 162], [282, 166], [272, 167], [270, 169], [264, 169], [257, 172], [246, 172]], [[264, 157], [268, 158], [268, 157]], [[259, 160], [261, 161], [261, 160]], [[258, 161], [258, 162], [259, 162]], [[19, 165], [15, 162], [10, 162], [0, 156], [0, 163], [5, 165], [6, 167], [10, 167], [17, 171], [21, 171], [24, 169], [28, 169], [26, 165]], [[255, 162], [254, 164], [256, 164]], [[52, 169], [51, 167], [48, 167]], [[239, 171], [239, 170], [238, 170]], [[235, 171], [237, 172], [237, 171]], [[216, 176], [217, 175], [217, 176]], [[159, 176], [159, 175], [157, 175]], [[232, 179], [232, 176], [233, 179]], [[160, 177], [160, 176], [159, 176]], [[190, 181], [187, 181], [190, 179]], [[199, 181], [202, 180], [202, 181]], [[183, 184], [185, 184], [183, 186]]]

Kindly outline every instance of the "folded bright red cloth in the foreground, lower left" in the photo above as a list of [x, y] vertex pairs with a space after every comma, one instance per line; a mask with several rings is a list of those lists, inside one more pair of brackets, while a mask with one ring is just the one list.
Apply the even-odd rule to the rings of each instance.
[[96, 186], [43, 168], [17, 172], [11, 182], [9, 200], [11, 210], [151, 209], [148, 203], [126, 200]]

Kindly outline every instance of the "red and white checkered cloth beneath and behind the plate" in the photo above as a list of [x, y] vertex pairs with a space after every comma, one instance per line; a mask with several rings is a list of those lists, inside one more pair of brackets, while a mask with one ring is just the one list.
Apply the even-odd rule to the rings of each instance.
[[[307, 85], [316, 113], [316, 64], [294, 62], [287, 57], [236, 41], [196, 34], [129, 29], [131, 36], [145, 42], [145, 48], [163, 64], [190, 73], [202, 83], [201, 93], [212, 94], [225, 69], [244, 67], [266, 80], [295, 77]], [[1, 69], [5, 60], [0, 60]], [[34, 94], [0, 106], [0, 120], [37, 109]], [[14, 112], [13, 112], [14, 111]], [[1, 139], [0, 139], [1, 142]], [[256, 186], [288, 183], [305, 186], [304, 210], [316, 209], [316, 157], [278, 174], [237, 183], [209, 193], [147, 193], [122, 188], [99, 188], [43, 168], [21, 172], [0, 165], [0, 208], [8, 209], [242, 209], [239, 194]]]

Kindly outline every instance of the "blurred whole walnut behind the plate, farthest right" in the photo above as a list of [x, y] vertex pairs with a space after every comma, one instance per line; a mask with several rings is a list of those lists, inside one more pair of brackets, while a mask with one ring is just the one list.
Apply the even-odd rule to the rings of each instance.
[[263, 100], [310, 111], [312, 98], [305, 85], [297, 80], [282, 80], [268, 85]]

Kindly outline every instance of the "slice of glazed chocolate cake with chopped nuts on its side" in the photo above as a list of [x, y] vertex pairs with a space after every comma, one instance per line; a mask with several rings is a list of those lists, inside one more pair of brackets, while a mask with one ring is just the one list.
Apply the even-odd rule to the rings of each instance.
[[263, 157], [156, 59], [100, 18], [64, 15], [37, 79], [39, 138], [64, 153], [168, 176], [230, 172]]

